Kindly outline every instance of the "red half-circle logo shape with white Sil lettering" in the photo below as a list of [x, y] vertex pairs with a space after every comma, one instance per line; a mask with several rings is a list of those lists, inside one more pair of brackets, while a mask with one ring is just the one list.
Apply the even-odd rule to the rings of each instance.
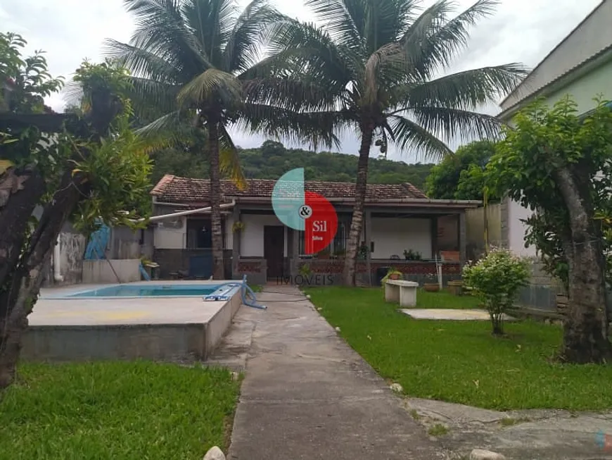
[[306, 254], [316, 254], [331, 244], [338, 230], [338, 215], [333, 205], [314, 192], [305, 192], [305, 205], [300, 209], [300, 217], [305, 219]]

